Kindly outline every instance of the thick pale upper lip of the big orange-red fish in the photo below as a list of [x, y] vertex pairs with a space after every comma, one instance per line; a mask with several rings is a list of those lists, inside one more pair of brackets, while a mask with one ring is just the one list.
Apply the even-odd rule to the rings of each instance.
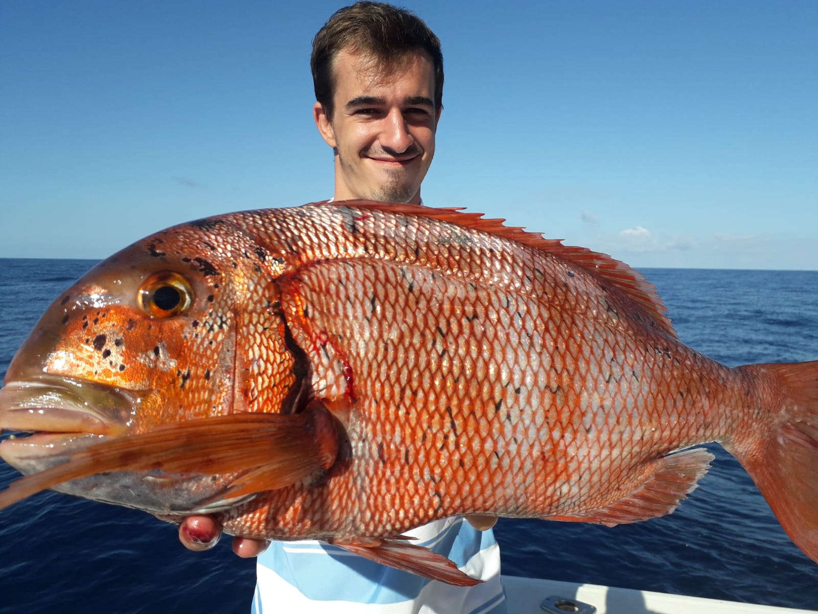
[[119, 435], [133, 422], [137, 395], [71, 377], [41, 375], [0, 389], [0, 432]]

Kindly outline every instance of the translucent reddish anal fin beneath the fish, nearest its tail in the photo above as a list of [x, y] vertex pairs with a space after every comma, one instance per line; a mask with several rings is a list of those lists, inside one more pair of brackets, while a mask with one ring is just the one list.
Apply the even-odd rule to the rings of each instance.
[[672, 513], [682, 499], [693, 492], [713, 459], [704, 448], [670, 454], [654, 461], [655, 471], [644, 484], [605, 508], [576, 516], [548, 517], [548, 520], [596, 522], [616, 526]]

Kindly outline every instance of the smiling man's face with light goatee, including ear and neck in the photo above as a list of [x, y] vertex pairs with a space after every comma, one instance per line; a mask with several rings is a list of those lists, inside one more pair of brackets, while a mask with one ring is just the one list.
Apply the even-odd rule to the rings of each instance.
[[434, 156], [440, 110], [434, 108], [434, 65], [424, 52], [384, 68], [368, 56], [335, 58], [332, 119], [316, 103], [321, 136], [335, 147], [335, 200], [419, 203]]

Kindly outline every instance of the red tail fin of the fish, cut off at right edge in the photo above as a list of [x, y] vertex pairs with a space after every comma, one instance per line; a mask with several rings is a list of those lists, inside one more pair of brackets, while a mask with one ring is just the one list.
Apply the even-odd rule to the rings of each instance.
[[790, 539], [818, 562], [818, 360], [739, 369], [762, 381], [775, 377], [786, 395], [784, 410], [774, 431], [722, 445], [753, 478]]

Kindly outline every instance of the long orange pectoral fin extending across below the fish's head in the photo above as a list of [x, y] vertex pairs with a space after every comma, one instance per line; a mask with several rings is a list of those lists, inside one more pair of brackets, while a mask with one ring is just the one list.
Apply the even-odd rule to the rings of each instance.
[[[242, 485], [243, 494], [281, 488], [335, 461], [337, 435], [331, 420], [326, 410], [308, 409], [293, 415], [236, 413], [165, 424], [91, 445], [65, 463], [12, 482], [0, 492], [0, 509], [62, 482], [102, 472], [246, 472], [245, 480], [234, 481]], [[265, 473], [263, 480], [258, 480], [260, 473]]]

